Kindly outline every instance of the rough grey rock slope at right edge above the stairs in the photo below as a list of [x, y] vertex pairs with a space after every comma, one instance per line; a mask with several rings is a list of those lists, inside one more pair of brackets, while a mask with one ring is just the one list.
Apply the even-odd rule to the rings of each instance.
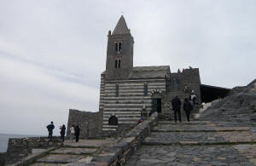
[[201, 114], [202, 119], [216, 121], [239, 121], [240, 123], [256, 122], [256, 79], [245, 87], [236, 87], [230, 94], [212, 103], [205, 112]]

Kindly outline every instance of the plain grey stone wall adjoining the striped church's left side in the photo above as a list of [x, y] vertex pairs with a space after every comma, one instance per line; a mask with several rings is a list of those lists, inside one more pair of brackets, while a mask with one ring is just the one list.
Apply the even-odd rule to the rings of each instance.
[[81, 112], [69, 110], [67, 136], [70, 135], [72, 125], [79, 125], [80, 138], [96, 138], [102, 136], [102, 112]]

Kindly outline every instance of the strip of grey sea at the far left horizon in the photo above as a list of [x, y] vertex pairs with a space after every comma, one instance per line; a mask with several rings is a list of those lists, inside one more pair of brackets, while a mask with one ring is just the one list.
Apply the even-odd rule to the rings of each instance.
[[25, 137], [34, 137], [34, 136], [42, 136], [42, 135], [19, 135], [19, 134], [0, 133], [0, 152], [7, 151], [9, 138], [25, 138]]

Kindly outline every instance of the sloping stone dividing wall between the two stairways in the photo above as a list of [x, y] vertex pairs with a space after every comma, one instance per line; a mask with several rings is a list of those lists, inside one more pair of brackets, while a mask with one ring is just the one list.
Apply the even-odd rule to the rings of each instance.
[[148, 117], [147, 120], [144, 120], [143, 123], [131, 129], [124, 137], [119, 138], [113, 146], [109, 146], [102, 154], [94, 157], [92, 162], [88, 165], [123, 165], [131, 154], [136, 152], [138, 147], [141, 146], [142, 141], [150, 134], [150, 131], [154, 128], [157, 121], [158, 114], [155, 112], [151, 117]]

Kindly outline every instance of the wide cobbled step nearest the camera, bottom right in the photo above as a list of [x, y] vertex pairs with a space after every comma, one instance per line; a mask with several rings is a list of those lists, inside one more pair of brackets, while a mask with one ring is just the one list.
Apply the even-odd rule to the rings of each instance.
[[256, 165], [256, 145], [142, 146], [125, 166]]

